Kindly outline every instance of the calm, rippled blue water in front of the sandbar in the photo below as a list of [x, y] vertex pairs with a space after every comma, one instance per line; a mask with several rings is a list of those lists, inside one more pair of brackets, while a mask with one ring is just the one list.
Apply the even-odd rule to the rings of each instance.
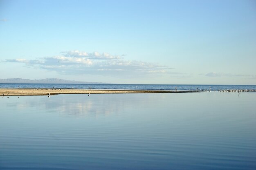
[[2, 170], [255, 170], [256, 93], [5, 96]]

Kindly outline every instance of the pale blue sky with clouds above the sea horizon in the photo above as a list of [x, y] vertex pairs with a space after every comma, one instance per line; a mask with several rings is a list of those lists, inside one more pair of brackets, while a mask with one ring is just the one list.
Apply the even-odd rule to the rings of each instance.
[[255, 0], [0, 0], [0, 79], [256, 84]]

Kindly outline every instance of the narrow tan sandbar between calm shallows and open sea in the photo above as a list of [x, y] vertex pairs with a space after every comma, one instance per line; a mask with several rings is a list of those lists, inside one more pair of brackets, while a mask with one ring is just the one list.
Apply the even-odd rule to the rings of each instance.
[[186, 93], [195, 91], [158, 91], [158, 90], [93, 90], [93, 89], [56, 89], [56, 88], [0, 88], [0, 95], [58, 95], [58, 94], [103, 94], [103, 93]]

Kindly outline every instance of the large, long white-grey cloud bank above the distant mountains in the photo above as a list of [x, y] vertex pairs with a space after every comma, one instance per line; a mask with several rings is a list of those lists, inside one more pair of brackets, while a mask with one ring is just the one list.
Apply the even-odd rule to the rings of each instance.
[[61, 52], [62, 55], [43, 57], [38, 60], [22, 58], [4, 60], [4, 62], [24, 63], [26, 66], [56, 71], [67, 75], [111, 75], [139, 76], [169, 74], [169, 66], [151, 62], [125, 60], [124, 55], [108, 53], [86, 53], [81, 51]]

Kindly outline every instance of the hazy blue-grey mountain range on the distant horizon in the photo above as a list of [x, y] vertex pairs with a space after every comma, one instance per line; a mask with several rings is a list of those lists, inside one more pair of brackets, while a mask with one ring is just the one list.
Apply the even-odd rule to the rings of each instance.
[[25, 84], [109, 84], [99, 82], [80, 82], [65, 79], [0, 79], [0, 83], [25, 83]]

